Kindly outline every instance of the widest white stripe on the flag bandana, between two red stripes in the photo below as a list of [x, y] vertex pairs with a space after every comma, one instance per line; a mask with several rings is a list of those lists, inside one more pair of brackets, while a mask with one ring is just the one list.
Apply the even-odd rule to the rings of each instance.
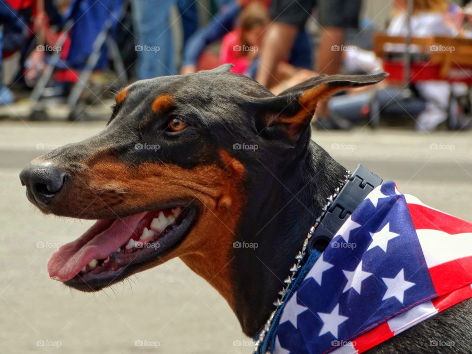
[[450, 235], [439, 230], [416, 230], [428, 268], [472, 256], [472, 233]]

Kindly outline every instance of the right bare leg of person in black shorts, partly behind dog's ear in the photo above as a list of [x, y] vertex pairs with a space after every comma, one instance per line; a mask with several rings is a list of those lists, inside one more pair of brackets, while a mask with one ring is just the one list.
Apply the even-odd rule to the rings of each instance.
[[[340, 51], [344, 45], [344, 29], [337, 27], [325, 27], [321, 31], [320, 44], [318, 45], [317, 71], [320, 74], [334, 75], [339, 74], [342, 63], [342, 52]], [[339, 50], [336, 51], [335, 49]], [[322, 102], [317, 110], [316, 115], [326, 117], [328, 115], [328, 104]]]

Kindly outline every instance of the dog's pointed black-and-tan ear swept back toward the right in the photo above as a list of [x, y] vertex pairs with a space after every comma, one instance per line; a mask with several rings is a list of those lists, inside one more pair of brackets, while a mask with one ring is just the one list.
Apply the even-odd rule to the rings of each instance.
[[310, 125], [317, 105], [337, 91], [373, 85], [388, 76], [376, 75], [320, 75], [287, 89], [278, 96], [257, 100], [258, 133], [283, 127], [290, 139], [296, 141]]

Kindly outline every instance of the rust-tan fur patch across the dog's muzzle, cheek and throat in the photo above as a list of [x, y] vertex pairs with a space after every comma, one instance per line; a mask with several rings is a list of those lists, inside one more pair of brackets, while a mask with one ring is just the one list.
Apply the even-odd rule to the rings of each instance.
[[55, 203], [53, 212], [115, 218], [152, 210], [157, 203], [198, 205], [200, 214], [184, 240], [140, 270], [180, 257], [234, 308], [231, 246], [245, 200], [245, 169], [227, 151], [222, 149], [219, 155], [214, 164], [191, 169], [170, 163], [129, 166], [109, 155], [90, 158], [81, 176], [69, 180], [67, 197]]

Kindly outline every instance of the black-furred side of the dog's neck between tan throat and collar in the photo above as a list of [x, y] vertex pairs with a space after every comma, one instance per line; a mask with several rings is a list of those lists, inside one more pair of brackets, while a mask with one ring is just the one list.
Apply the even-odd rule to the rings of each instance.
[[248, 247], [234, 250], [231, 265], [233, 309], [249, 336], [265, 324], [307, 232], [346, 175], [323, 148], [311, 141], [308, 145], [284, 174], [256, 178], [250, 186], [238, 228]]

